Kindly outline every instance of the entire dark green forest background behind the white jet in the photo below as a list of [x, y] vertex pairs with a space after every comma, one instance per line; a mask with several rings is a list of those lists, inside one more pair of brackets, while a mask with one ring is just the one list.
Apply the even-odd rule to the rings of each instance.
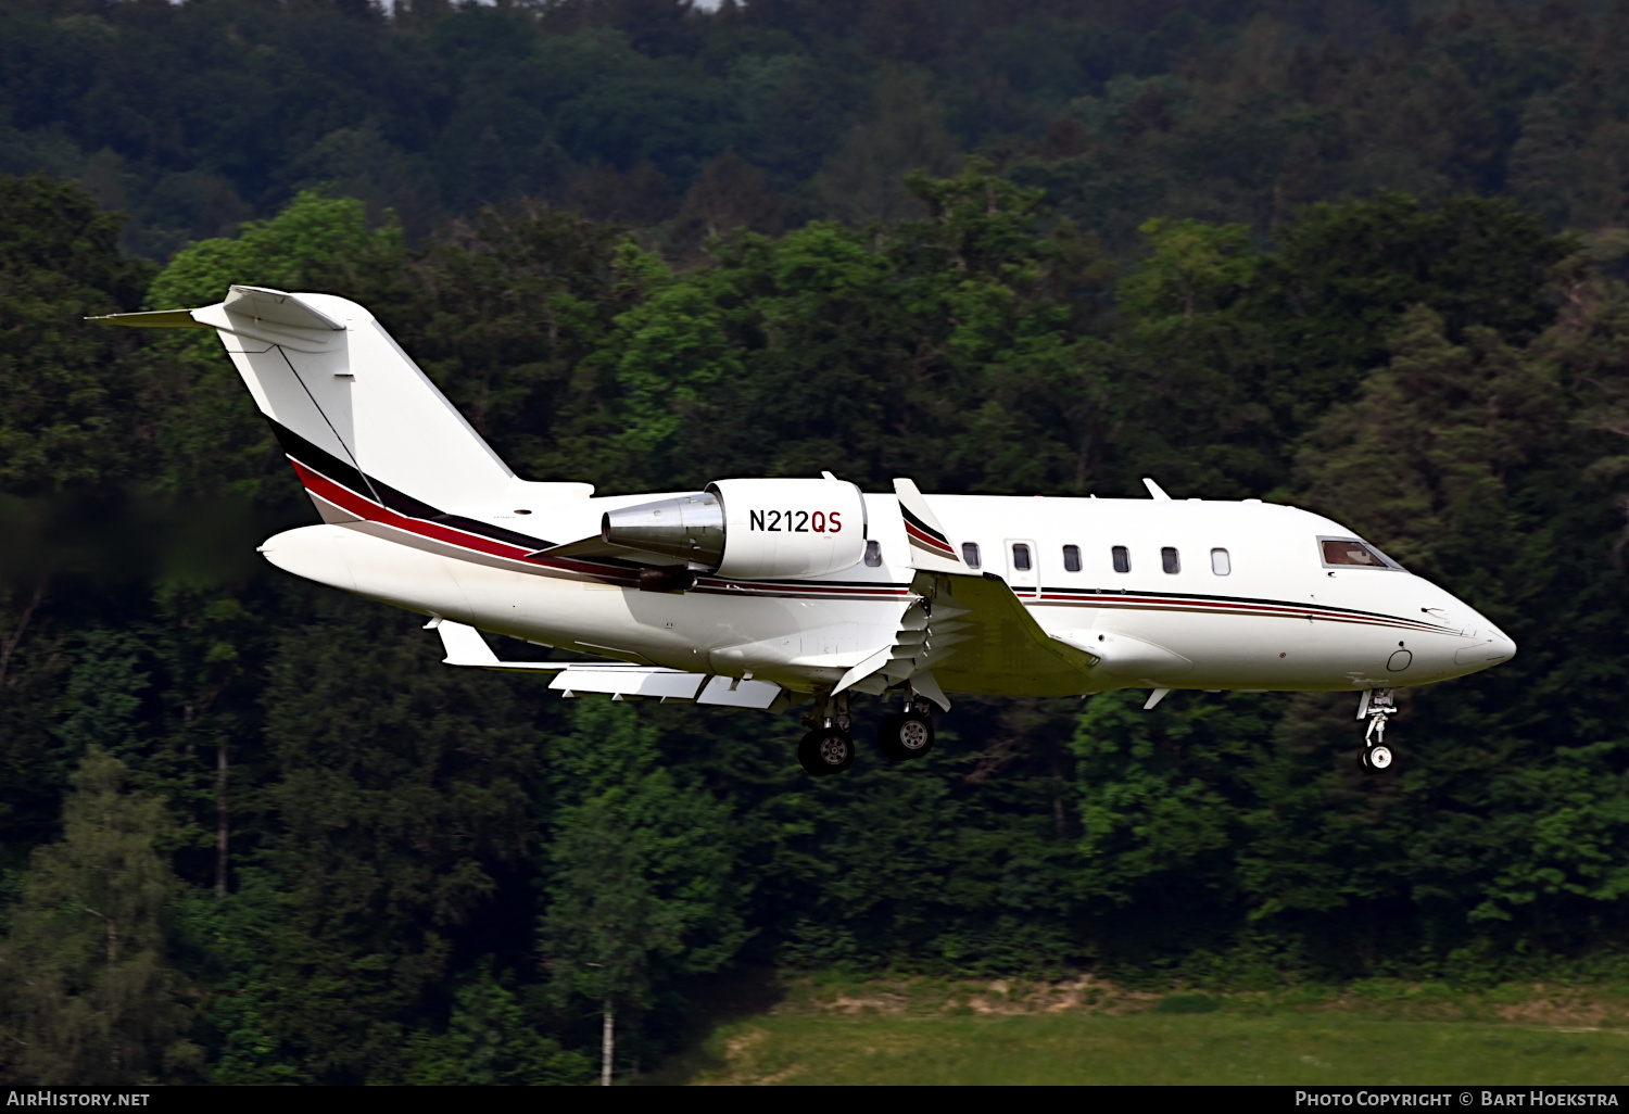
[[[0, 1078], [580, 1081], [753, 967], [1621, 979], [1629, 5], [0, 3]], [[1261, 497], [1515, 661], [1355, 697], [552, 699], [270, 570], [212, 342], [370, 306], [531, 479]], [[507, 651], [515, 651], [508, 648]]]

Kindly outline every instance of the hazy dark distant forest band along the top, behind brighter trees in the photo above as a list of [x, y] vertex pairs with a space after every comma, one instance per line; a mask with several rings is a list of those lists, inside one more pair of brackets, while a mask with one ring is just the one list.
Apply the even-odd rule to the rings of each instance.
[[642, 228], [891, 223], [986, 155], [1116, 252], [1381, 189], [1622, 223], [1622, 0], [8, 0], [0, 173], [165, 257], [334, 182], [417, 239], [520, 195]]

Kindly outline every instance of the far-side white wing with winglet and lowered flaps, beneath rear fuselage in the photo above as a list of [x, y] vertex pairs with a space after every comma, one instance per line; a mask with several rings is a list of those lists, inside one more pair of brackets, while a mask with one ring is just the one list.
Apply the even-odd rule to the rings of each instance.
[[500, 661], [474, 627], [451, 619], [432, 619], [427, 625], [441, 635], [441, 647], [446, 650], [441, 660], [445, 664], [554, 673], [557, 676], [549, 687], [562, 697], [596, 692], [608, 694], [613, 700], [684, 700], [759, 710], [772, 710], [782, 699], [780, 686], [769, 681], [740, 681], [663, 666], [614, 661]]

